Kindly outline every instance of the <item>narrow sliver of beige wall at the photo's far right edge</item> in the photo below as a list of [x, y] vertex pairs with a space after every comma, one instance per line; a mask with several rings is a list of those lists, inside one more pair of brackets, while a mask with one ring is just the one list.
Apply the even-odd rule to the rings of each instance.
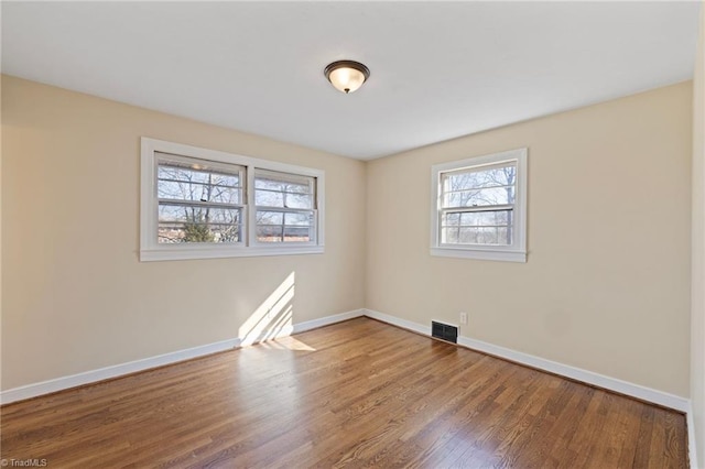
[[705, 468], [705, 2], [693, 77], [693, 266], [691, 310], [691, 399], [697, 462]]

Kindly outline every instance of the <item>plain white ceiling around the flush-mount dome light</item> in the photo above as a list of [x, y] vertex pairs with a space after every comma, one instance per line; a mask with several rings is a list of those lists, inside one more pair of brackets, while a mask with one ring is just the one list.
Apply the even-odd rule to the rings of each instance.
[[[697, 2], [2, 2], [2, 72], [361, 160], [692, 78]], [[343, 95], [323, 76], [365, 63]]]

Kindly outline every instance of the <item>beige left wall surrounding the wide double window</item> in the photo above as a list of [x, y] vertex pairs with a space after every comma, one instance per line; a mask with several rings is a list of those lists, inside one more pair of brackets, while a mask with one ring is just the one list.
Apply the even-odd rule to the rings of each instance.
[[[140, 137], [326, 172], [319, 255], [143, 262]], [[2, 77], [2, 389], [238, 337], [295, 272], [294, 324], [364, 306], [365, 164]]]

